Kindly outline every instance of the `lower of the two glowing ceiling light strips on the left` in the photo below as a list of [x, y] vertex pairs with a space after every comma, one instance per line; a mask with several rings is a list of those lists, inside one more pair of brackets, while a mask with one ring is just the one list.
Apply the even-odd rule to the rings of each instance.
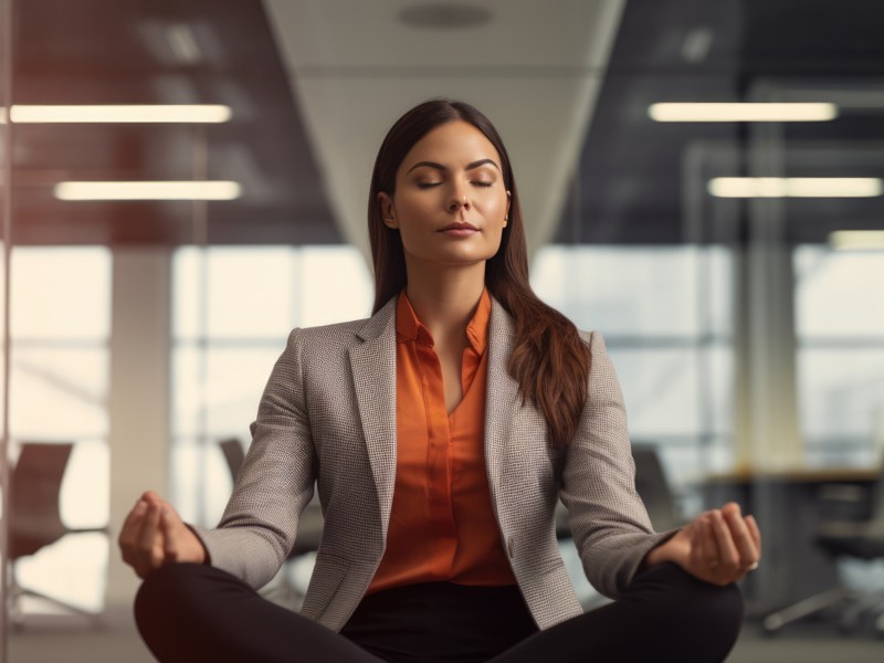
[[242, 187], [233, 181], [59, 182], [59, 200], [234, 200]]

